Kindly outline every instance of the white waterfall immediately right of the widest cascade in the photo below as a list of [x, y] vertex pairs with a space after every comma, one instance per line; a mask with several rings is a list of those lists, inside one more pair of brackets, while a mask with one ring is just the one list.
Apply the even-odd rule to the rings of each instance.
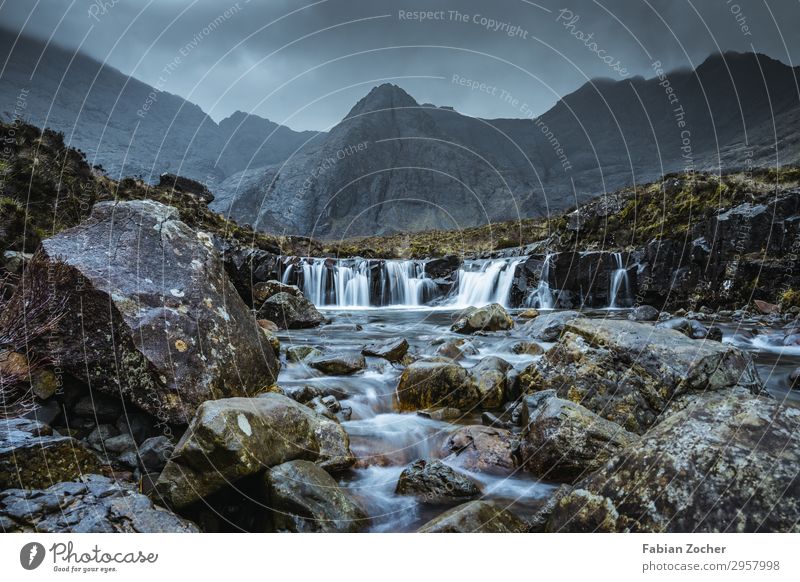
[[458, 271], [458, 293], [453, 306], [468, 307], [499, 303], [508, 306], [517, 265], [524, 259], [467, 261]]

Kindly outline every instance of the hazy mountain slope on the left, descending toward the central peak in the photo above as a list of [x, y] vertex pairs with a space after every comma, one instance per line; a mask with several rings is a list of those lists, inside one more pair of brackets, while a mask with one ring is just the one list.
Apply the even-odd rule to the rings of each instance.
[[256, 115], [217, 124], [194, 103], [151, 87], [82, 53], [0, 29], [0, 115], [63, 132], [114, 178], [157, 181], [172, 172], [215, 183], [285, 159], [316, 132], [295, 132]]

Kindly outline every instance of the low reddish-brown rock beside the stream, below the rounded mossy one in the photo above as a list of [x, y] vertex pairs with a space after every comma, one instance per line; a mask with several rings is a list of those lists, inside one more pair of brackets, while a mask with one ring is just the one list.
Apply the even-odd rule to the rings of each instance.
[[518, 449], [519, 439], [510, 431], [487, 426], [459, 428], [445, 443], [450, 464], [467, 471], [498, 475], [514, 471]]

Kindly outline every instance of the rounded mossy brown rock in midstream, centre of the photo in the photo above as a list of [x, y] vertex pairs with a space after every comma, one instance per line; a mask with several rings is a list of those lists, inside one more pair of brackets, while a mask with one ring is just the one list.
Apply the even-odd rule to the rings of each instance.
[[481, 394], [472, 375], [458, 364], [430, 360], [403, 370], [395, 392], [400, 410], [477, 407]]

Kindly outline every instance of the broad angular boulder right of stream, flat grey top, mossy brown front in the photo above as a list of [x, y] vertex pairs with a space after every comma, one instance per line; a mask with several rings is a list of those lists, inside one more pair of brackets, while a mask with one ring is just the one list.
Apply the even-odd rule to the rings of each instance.
[[527, 392], [554, 389], [637, 434], [682, 394], [763, 390], [750, 356], [731, 345], [643, 323], [586, 318], [567, 322], [558, 343], [520, 374], [520, 384]]

